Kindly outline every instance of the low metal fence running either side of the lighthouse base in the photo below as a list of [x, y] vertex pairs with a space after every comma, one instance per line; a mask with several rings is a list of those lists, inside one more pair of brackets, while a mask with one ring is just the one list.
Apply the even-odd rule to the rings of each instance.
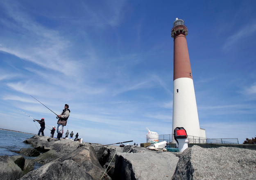
[[[172, 139], [173, 134], [161, 134], [159, 135], [159, 142], [175, 142]], [[202, 138], [197, 136], [189, 136], [188, 135], [188, 143], [207, 143], [207, 144], [239, 144], [238, 138]]]

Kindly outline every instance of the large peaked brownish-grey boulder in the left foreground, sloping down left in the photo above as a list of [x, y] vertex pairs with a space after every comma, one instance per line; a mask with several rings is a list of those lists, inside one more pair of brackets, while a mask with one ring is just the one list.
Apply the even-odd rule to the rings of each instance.
[[111, 180], [104, 174], [93, 147], [83, 145], [66, 156], [27, 173], [20, 180], [99, 180], [102, 176], [105, 180]]

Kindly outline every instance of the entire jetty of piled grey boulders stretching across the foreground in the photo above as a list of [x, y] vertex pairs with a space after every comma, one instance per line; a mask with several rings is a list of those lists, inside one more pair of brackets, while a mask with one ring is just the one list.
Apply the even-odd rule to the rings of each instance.
[[[1, 180], [252, 180], [256, 151], [235, 147], [202, 148], [182, 153], [134, 145], [100, 146], [70, 139], [33, 136], [23, 156], [0, 156]], [[100, 146], [100, 147], [98, 147]], [[33, 169], [34, 163], [43, 164]]]

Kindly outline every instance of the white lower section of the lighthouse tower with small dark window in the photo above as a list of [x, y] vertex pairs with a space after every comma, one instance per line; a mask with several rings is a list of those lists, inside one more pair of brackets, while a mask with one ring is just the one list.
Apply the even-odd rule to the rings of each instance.
[[175, 79], [173, 88], [172, 133], [176, 127], [184, 127], [189, 138], [201, 137], [193, 79]]

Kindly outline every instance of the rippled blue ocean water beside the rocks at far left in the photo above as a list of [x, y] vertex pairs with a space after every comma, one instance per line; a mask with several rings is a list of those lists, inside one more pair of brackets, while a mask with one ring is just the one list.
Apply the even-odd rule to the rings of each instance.
[[12, 151], [20, 151], [21, 148], [31, 148], [31, 144], [26, 144], [23, 141], [32, 136], [34, 135], [0, 129], [0, 156], [21, 155]]

